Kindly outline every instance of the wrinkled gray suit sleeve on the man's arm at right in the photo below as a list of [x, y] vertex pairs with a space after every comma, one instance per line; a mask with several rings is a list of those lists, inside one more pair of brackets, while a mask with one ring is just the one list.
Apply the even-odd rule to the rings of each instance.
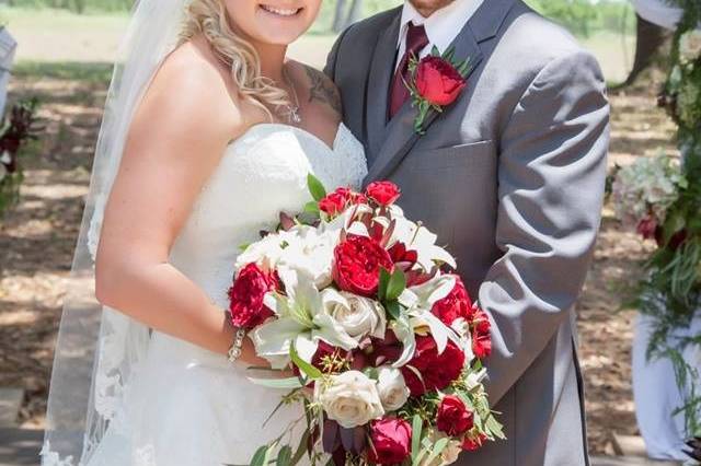
[[492, 322], [496, 404], [570, 318], [599, 229], [609, 105], [596, 60], [575, 51], [537, 74], [499, 141], [496, 244], [479, 290]]

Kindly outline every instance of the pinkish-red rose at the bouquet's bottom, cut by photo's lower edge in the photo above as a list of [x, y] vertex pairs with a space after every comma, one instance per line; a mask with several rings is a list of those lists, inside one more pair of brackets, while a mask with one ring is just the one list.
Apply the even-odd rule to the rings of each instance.
[[409, 457], [412, 427], [403, 419], [386, 418], [370, 426], [372, 444], [368, 461], [378, 465], [395, 465]]

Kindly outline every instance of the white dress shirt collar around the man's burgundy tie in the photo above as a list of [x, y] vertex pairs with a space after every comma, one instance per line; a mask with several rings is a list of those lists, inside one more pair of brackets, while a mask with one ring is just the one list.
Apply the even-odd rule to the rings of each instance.
[[404, 0], [397, 43], [399, 53], [397, 54], [398, 58], [394, 68], [399, 66], [406, 49], [406, 31], [409, 31], [410, 21], [415, 25], [423, 24], [426, 30], [426, 36], [428, 36], [428, 45], [418, 54], [418, 58], [428, 55], [434, 46], [443, 54], [460, 34], [462, 27], [478, 11], [483, 1], [455, 0], [452, 3], [434, 12], [430, 16], [424, 18], [409, 0]]

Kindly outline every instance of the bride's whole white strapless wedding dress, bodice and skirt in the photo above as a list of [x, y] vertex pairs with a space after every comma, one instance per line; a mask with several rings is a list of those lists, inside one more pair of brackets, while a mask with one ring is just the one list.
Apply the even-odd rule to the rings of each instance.
[[[226, 308], [242, 244], [274, 229], [280, 210], [309, 200], [307, 175], [326, 188], [358, 188], [363, 145], [343, 125], [333, 148], [287, 125], [253, 126], [233, 141], [203, 188], [172, 249], [171, 263]], [[301, 416], [297, 407], [263, 423], [284, 391], [251, 383], [245, 364], [153, 331], [147, 356], [90, 466], [249, 464], [255, 450]], [[294, 445], [296, 446], [296, 444]]]

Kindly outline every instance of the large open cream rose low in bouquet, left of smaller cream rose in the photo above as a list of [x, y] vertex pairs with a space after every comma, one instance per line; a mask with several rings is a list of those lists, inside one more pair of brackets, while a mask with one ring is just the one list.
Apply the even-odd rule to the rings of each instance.
[[329, 385], [314, 384], [314, 400], [329, 416], [346, 429], [365, 426], [384, 415], [377, 383], [359, 371], [331, 376]]

